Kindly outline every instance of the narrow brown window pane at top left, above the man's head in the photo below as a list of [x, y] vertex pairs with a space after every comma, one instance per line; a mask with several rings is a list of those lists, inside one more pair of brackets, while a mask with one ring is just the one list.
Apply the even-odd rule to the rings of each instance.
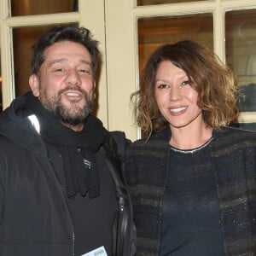
[[48, 15], [77, 10], [78, 0], [11, 0], [12, 16]]

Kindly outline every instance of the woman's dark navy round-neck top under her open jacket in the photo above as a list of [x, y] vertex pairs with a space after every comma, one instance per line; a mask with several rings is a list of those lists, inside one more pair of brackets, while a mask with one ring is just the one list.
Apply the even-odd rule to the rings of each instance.
[[172, 149], [170, 159], [162, 203], [160, 256], [223, 256], [210, 145], [190, 153]]

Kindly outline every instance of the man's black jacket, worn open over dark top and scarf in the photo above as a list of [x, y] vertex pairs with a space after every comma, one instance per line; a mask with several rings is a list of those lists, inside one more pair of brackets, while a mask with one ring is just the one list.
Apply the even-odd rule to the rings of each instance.
[[[15, 99], [0, 117], [0, 255], [71, 256], [75, 236], [67, 198], [36, 124], [21, 114], [24, 104], [24, 96]], [[134, 250], [131, 203], [114, 145], [106, 131], [100, 154], [119, 201], [114, 250], [115, 255], [130, 256]]]

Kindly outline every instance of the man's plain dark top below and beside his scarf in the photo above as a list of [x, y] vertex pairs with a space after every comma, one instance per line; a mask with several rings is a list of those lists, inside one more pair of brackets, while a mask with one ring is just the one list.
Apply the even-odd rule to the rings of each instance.
[[[54, 167], [63, 190], [67, 195], [65, 172], [63, 172], [62, 157], [60, 150], [54, 145], [46, 143], [49, 158]], [[96, 153], [96, 168], [101, 181], [99, 195], [90, 198], [89, 193], [85, 196], [77, 193], [67, 197], [67, 205], [73, 218], [73, 229], [75, 234], [75, 254], [77, 256], [88, 253], [91, 250], [105, 247], [108, 255], [113, 255], [113, 221], [118, 209], [113, 179], [105, 166], [102, 154]]]

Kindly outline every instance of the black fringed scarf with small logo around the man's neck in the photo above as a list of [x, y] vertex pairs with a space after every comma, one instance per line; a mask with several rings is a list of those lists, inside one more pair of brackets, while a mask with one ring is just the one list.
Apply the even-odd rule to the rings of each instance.
[[104, 143], [106, 130], [102, 122], [89, 115], [82, 131], [73, 131], [62, 125], [52, 113], [45, 109], [38, 98], [28, 93], [26, 115], [35, 114], [40, 124], [40, 134], [44, 142], [60, 149], [67, 181], [67, 195], [80, 193], [90, 198], [100, 194], [100, 179], [96, 170], [94, 154]]

